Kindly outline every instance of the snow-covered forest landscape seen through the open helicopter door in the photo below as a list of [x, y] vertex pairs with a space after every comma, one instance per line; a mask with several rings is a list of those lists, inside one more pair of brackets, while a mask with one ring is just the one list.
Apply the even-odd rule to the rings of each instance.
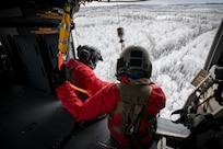
[[121, 51], [117, 28], [124, 27], [125, 46], [145, 47], [153, 62], [152, 81], [167, 101], [161, 116], [169, 118], [192, 92], [190, 81], [202, 69], [223, 19], [223, 4], [115, 4], [84, 7], [74, 15], [74, 46], [101, 49], [104, 61], [95, 73], [116, 81], [116, 60]]

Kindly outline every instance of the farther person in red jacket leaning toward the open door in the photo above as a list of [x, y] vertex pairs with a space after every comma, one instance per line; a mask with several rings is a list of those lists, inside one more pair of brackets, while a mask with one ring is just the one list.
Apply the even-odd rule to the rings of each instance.
[[70, 59], [64, 62], [67, 79], [74, 85], [73, 91], [78, 98], [84, 102], [108, 82], [98, 79], [93, 71], [97, 62], [103, 61], [101, 50], [87, 45], [79, 46], [77, 50], [78, 59]]

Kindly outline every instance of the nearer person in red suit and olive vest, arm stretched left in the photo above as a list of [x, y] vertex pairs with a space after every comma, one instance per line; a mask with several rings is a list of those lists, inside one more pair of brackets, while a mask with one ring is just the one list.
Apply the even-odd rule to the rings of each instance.
[[[111, 138], [124, 148], [149, 148], [156, 128], [156, 117], [166, 102], [161, 87], [151, 81], [151, 72], [152, 64], [146, 49], [129, 46], [117, 60], [118, 83], [107, 84], [83, 103], [66, 80], [62, 66], [57, 98], [77, 122], [106, 114]], [[137, 106], [133, 104], [129, 108], [128, 103], [132, 105], [132, 101]]]

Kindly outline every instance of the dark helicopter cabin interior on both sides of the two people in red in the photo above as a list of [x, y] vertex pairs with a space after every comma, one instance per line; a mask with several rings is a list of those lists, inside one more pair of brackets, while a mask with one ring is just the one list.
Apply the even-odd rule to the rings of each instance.
[[[118, 148], [111, 146], [106, 118], [101, 116], [79, 124], [66, 111], [55, 95], [51, 82], [52, 69], [57, 66], [58, 24], [62, 16], [62, 0], [7, 1], [0, 7], [0, 140], [2, 149], [71, 149], [71, 148]], [[222, 21], [223, 22], [223, 21]], [[172, 122], [159, 118], [156, 140], [159, 148], [178, 148], [184, 142], [200, 144], [218, 125], [219, 138], [223, 138], [223, 23], [215, 35], [203, 71], [195, 78], [195, 92], [183, 110], [176, 114], [180, 119]], [[216, 65], [218, 67], [213, 68]], [[209, 79], [213, 69], [215, 78]], [[206, 74], [203, 74], [206, 73]], [[208, 79], [207, 79], [208, 78]], [[211, 80], [211, 82], [210, 82]], [[213, 80], [219, 80], [214, 82]], [[202, 117], [188, 123], [191, 103], [198, 104], [200, 94], [216, 85], [218, 96], [213, 104], [202, 107]], [[197, 91], [201, 90], [198, 95]], [[215, 91], [216, 91], [215, 90]], [[187, 111], [187, 112], [186, 112]], [[198, 114], [190, 111], [191, 114]], [[203, 114], [204, 113], [204, 114]], [[207, 119], [211, 113], [211, 122]], [[203, 125], [202, 125], [203, 124]], [[207, 124], [207, 125], [206, 125]], [[200, 130], [198, 126], [206, 130]], [[210, 128], [211, 127], [211, 128]], [[197, 135], [196, 133], [201, 133]], [[204, 131], [204, 133], [203, 133]], [[203, 136], [202, 136], [203, 135]], [[193, 138], [196, 140], [193, 140]], [[212, 139], [218, 141], [218, 139]], [[203, 140], [202, 140], [203, 141]], [[223, 145], [219, 145], [223, 147]], [[218, 146], [218, 147], [219, 147]], [[189, 146], [190, 147], [190, 146]], [[152, 146], [151, 146], [152, 149]]]

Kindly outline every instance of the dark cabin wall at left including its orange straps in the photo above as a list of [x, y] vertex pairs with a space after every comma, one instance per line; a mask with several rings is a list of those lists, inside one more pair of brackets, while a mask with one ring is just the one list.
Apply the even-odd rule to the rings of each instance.
[[50, 7], [32, 8], [30, 4], [0, 9], [1, 55], [7, 55], [12, 66], [12, 72], [2, 71], [0, 78], [3, 85], [9, 81], [28, 83], [51, 93], [61, 14]]

